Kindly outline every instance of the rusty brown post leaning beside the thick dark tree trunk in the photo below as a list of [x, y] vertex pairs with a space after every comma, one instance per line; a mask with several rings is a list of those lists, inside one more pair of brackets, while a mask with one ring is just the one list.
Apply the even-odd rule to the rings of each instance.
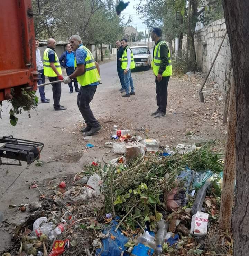
[[235, 159], [235, 131], [236, 131], [236, 95], [235, 84], [231, 83], [227, 145], [224, 165], [224, 176], [221, 194], [219, 228], [224, 231], [231, 229], [231, 215], [234, 195], [234, 181], [236, 176]]

